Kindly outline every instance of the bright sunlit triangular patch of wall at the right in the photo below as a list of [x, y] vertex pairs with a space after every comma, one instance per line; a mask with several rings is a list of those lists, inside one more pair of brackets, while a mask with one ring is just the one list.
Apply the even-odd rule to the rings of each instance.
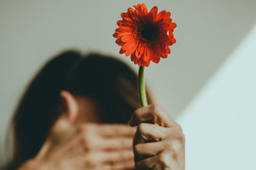
[[256, 24], [178, 118], [188, 169], [256, 169]]

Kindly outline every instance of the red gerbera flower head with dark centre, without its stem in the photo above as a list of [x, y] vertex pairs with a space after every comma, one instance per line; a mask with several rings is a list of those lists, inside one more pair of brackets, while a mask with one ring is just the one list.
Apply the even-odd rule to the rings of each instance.
[[119, 53], [131, 55], [131, 60], [139, 66], [149, 66], [150, 61], [158, 63], [171, 53], [169, 48], [176, 40], [173, 29], [177, 26], [170, 18], [171, 13], [161, 11], [157, 6], [149, 12], [145, 4], [134, 5], [127, 13], [121, 13], [123, 20], [118, 20], [118, 29], [113, 36], [116, 43], [122, 46]]

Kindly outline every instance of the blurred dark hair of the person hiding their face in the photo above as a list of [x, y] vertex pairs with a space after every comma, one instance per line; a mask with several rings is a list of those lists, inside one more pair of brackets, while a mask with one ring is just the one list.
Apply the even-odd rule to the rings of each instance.
[[[104, 109], [106, 123], [126, 124], [140, 107], [137, 76], [130, 67], [106, 55], [63, 52], [36, 74], [15, 111], [13, 167], [40, 150], [60, 116], [56, 108], [61, 103], [61, 90], [95, 99]], [[152, 103], [150, 97], [148, 103]]]

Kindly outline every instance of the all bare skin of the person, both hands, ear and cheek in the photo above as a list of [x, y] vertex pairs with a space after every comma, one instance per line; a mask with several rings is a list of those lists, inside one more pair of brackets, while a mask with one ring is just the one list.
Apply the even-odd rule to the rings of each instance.
[[99, 124], [100, 110], [92, 100], [67, 91], [61, 97], [67, 109], [40, 152], [19, 170], [184, 169], [182, 129], [160, 106], [134, 111], [130, 126]]

